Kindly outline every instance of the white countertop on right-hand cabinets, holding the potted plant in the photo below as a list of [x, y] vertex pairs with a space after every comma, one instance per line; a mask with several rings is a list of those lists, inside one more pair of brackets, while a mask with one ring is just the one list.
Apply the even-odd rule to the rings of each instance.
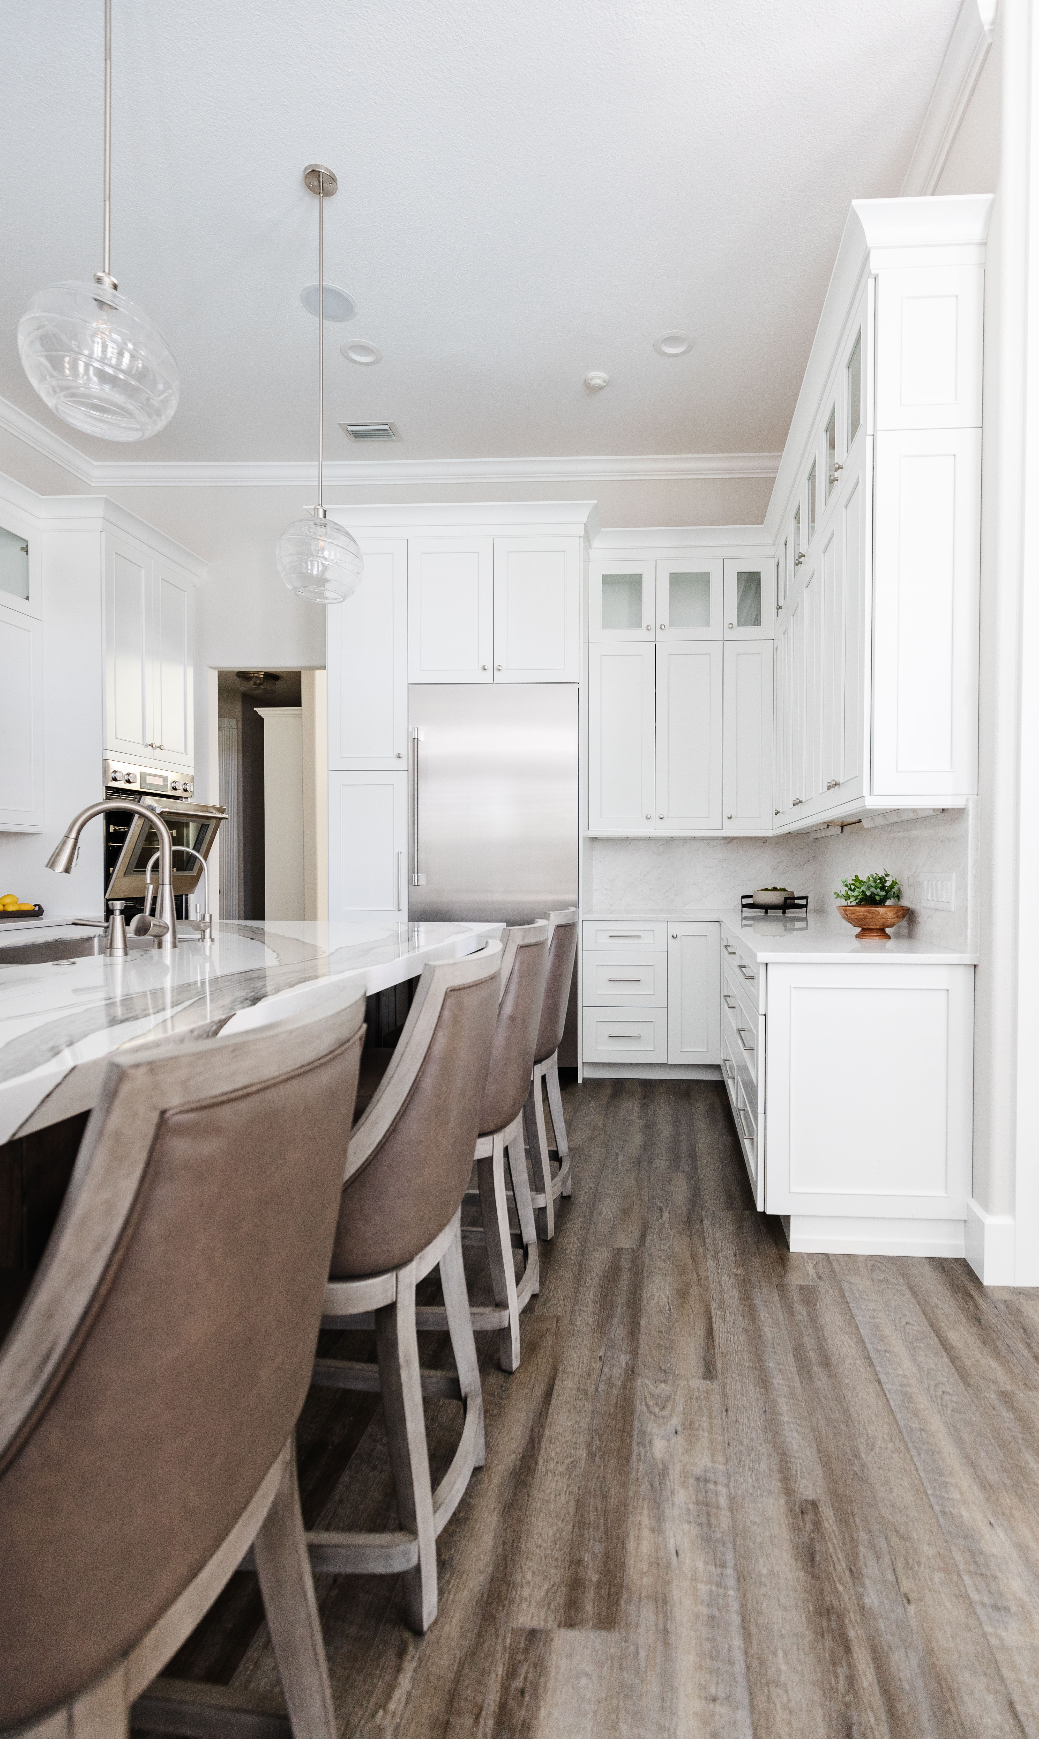
[[721, 923], [731, 930], [742, 946], [754, 955], [761, 965], [787, 962], [787, 965], [824, 965], [825, 962], [850, 965], [851, 962], [870, 962], [872, 965], [888, 962], [891, 965], [921, 967], [976, 967], [976, 953], [957, 948], [938, 948], [923, 937], [900, 934], [900, 925], [891, 930], [890, 941], [857, 941], [855, 930], [843, 918], [808, 913], [808, 918], [766, 918], [764, 915], [747, 918], [742, 911], [719, 911], [718, 906], [693, 906], [685, 911], [594, 911], [586, 918], [610, 923], [671, 923], [700, 922]]

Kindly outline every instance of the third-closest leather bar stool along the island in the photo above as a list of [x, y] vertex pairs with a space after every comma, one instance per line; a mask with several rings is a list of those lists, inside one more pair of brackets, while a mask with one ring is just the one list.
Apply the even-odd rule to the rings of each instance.
[[[523, 1101], [530, 1085], [549, 963], [546, 920], [507, 929], [502, 948], [499, 1012], [476, 1143], [478, 1189], [466, 1191], [466, 1200], [480, 1202], [483, 1224], [466, 1226], [462, 1243], [486, 1245], [495, 1296], [493, 1306], [473, 1306], [469, 1311], [473, 1327], [497, 1329], [499, 1363], [502, 1370], [516, 1370], [520, 1313], [539, 1287], [537, 1231], [523, 1144]], [[511, 1189], [506, 1184], [506, 1162]], [[518, 1229], [509, 1223], [509, 1196], [516, 1209]], [[520, 1276], [516, 1276], [514, 1249], [523, 1250]], [[434, 1306], [419, 1309], [419, 1329], [441, 1329], [443, 1323], [441, 1309]]]

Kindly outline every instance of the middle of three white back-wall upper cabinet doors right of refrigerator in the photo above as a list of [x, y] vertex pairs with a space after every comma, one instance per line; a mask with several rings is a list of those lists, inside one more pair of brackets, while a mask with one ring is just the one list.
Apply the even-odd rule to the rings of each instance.
[[657, 647], [657, 830], [721, 828], [721, 640]]

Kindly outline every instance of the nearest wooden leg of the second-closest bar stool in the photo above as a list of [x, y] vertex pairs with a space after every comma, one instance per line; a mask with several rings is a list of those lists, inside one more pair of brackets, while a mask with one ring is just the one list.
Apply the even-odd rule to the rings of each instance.
[[396, 1271], [396, 1299], [375, 1311], [379, 1388], [401, 1527], [419, 1541], [419, 1563], [403, 1572], [405, 1610], [420, 1635], [436, 1617], [436, 1529], [429, 1450], [422, 1417], [422, 1372], [415, 1334], [415, 1264]]

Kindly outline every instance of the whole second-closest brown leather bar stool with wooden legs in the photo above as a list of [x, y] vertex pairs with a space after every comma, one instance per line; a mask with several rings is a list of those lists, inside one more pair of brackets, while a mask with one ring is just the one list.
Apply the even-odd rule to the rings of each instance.
[[[483, 1466], [483, 1395], [462, 1269], [460, 1205], [473, 1167], [495, 1031], [500, 943], [427, 965], [372, 1103], [349, 1137], [325, 1329], [375, 1329], [377, 1365], [320, 1358], [313, 1381], [377, 1389], [386, 1412], [400, 1530], [308, 1534], [311, 1567], [351, 1576], [403, 1572], [405, 1612], [436, 1617], [436, 1536]], [[415, 1287], [440, 1264], [457, 1376], [422, 1370]], [[422, 1396], [460, 1400], [459, 1447], [431, 1489]]]

